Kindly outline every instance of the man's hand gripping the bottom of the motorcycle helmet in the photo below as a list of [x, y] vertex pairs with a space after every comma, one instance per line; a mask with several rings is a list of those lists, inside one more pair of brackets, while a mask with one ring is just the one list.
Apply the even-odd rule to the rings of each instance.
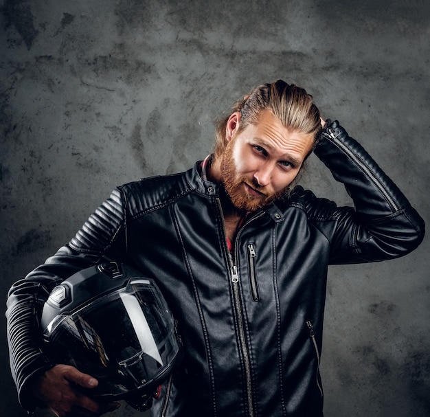
[[97, 387], [93, 376], [82, 374], [69, 365], [55, 365], [34, 385], [34, 395], [58, 417], [94, 417], [117, 409], [119, 403], [98, 403], [89, 396], [76, 390], [73, 385], [84, 388]]

